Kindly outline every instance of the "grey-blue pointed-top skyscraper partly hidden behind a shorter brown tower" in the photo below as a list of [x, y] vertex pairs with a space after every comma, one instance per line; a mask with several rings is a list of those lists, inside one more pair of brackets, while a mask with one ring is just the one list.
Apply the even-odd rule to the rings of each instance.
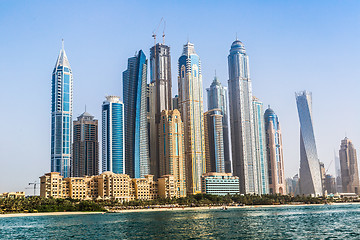
[[223, 142], [224, 142], [225, 172], [231, 173], [227, 88], [222, 86], [218, 78], [215, 76], [214, 81], [210, 85], [210, 88], [207, 88], [206, 91], [207, 91], [207, 99], [208, 99], [208, 110], [219, 108], [221, 109], [223, 115], [222, 127], [223, 127], [223, 136], [224, 136]]

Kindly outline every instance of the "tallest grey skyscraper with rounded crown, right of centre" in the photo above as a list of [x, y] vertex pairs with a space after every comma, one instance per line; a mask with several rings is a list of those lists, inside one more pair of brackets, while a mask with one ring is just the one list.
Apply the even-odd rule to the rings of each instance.
[[240, 193], [258, 194], [249, 57], [239, 40], [231, 45], [228, 65], [233, 174], [239, 177]]

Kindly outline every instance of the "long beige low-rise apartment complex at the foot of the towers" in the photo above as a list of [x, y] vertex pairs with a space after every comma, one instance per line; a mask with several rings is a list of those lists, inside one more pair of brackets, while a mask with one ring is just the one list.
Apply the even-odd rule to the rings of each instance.
[[[162, 178], [161, 178], [162, 179]], [[166, 185], [161, 195], [172, 192]], [[158, 183], [153, 175], [130, 178], [126, 174], [104, 172], [97, 176], [63, 178], [60, 173], [46, 173], [40, 177], [40, 196], [73, 199], [117, 199], [120, 201], [152, 200], [157, 198]], [[177, 195], [177, 193], [172, 193]]]

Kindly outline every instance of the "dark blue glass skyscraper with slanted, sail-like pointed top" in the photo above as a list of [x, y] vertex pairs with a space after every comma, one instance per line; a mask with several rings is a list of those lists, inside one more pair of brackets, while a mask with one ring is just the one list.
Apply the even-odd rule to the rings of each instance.
[[147, 59], [142, 50], [128, 59], [123, 72], [125, 172], [132, 178], [149, 174]]

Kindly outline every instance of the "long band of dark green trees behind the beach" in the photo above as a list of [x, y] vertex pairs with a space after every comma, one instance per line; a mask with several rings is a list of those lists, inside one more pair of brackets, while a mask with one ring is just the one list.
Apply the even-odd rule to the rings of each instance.
[[68, 211], [106, 211], [108, 209], [133, 209], [133, 208], [156, 208], [156, 207], [198, 207], [198, 206], [221, 206], [221, 205], [280, 205], [280, 204], [324, 204], [331, 202], [322, 197], [290, 195], [227, 195], [217, 196], [209, 194], [197, 194], [185, 198], [158, 198], [143, 201], [134, 200], [120, 202], [117, 200], [77, 200], [77, 199], [54, 199], [42, 197], [27, 198], [4, 198], [0, 199], [0, 213], [21, 212], [68, 212]]

